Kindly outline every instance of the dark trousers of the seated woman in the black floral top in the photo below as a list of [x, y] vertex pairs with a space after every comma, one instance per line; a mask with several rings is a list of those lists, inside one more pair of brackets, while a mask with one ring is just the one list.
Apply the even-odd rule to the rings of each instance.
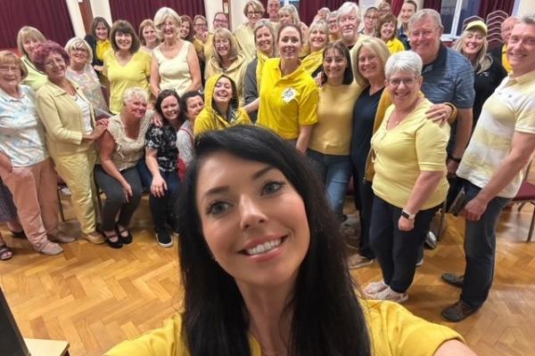
[[154, 223], [154, 230], [161, 231], [165, 229], [166, 223], [171, 220], [171, 228], [176, 222], [174, 206], [177, 202], [178, 189], [180, 187], [180, 180], [177, 172], [160, 172], [161, 177], [167, 184], [165, 195], [161, 198], [155, 197], [151, 194], [149, 198], [149, 207], [152, 214], [152, 222]]

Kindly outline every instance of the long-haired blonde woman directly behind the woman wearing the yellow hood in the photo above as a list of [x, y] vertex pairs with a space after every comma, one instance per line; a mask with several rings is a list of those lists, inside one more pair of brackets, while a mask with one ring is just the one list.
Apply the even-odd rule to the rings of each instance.
[[243, 78], [248, 61], [240, 53], [235, 37], [228, 29], [216, 29], [212, 40], [215, 51], [206, 63], [204, 79], [208, 80], [216, 74], [230, 77], [235, 82], [240, 106], [243, 106]]

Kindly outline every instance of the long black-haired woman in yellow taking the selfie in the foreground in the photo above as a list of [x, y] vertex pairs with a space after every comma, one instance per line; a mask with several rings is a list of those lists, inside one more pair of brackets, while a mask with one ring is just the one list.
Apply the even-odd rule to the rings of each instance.
[[474, 356], [450, 328], [358, 297], [313, 175], [259, 127], [202, 135], [177, 206], [184, 312], [104, 354]]

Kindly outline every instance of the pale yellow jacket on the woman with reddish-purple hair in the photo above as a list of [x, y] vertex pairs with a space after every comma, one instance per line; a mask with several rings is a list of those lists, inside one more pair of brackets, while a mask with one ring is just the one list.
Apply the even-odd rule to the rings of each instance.
[[[78, 85], [70, 82], [80, 97], [87, 101]], [[93, 147], [82, 141], [85, 133], [84, 118], [78, 104], [69, 93], [50, 80], [37, 90], [37, 112], [45, 125], [48, 153], [54, 156], [83, 152]], [[95, 127], [95, 112], [91, 109], [91, 121]]]

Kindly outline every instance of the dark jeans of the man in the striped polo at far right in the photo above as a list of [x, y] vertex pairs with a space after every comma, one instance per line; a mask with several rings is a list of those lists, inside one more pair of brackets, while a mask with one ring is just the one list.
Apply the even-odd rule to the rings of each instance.
[[[465, 181], [467, 201], [475, 198], [480, 190], [478, 186]], [[493, 198], [480, 220], [465, 223], [466, 267], [461, 300], [471, 308], [481, 307], [489, 296], [494, 277], [496, 227], [499, 215], [510, 200], [510, 198]]]

